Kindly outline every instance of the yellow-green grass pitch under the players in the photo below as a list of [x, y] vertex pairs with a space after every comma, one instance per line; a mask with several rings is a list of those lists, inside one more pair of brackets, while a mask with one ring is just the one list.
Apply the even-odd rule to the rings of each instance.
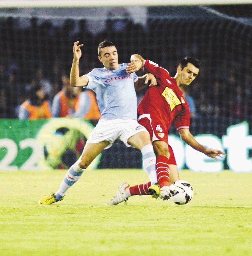
[[252, 172], [180, 172], [194, 197], [185, 206], [150, 196], [106, 205], [142, 170], [86, 171], [65, 199], [44, 206], [66, 170], [0, 172], [1, 256], [252, 255]]

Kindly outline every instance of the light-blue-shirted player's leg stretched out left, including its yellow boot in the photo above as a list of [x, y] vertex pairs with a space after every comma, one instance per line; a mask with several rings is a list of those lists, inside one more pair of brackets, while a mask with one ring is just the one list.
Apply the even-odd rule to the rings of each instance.
[[80, 158], [73, 164], [69, 170], [61, 185], [59, 186], [59, 190], [55, 194], [51, 194], [49, 196], [43, 197], [39, 200], [39, 204], [53, 204], [55, 202], [61, 201], [65, 196], [67, 190], [75, 184], [81, 178], [81, 175], [85, 171], [85, 169], [91, 164], [91, 162], [102, 152], [106, 146], [110, 143], [107, 141], [102, 141], [99, 143], [89, 143], [85, 145], [83, 152]]

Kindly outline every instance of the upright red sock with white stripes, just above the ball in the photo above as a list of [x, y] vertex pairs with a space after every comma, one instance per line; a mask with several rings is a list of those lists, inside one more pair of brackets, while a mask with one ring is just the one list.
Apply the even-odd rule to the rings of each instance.
[[169, 170], [169, 159], [166, 156], [157, 156], [156, 172], [158, 176], [158, 184], [160, 188], [163, 186], [170, 186], [170, 170]]

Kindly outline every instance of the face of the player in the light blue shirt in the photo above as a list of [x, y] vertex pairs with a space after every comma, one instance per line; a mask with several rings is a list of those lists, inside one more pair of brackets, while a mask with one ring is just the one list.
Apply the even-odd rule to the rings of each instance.
[[114, 70], [119, 68], [118, 66], [118, 55], [115, 46], [107, 46], [100, 50], [100, 56], [98, 59], [106, 69]]

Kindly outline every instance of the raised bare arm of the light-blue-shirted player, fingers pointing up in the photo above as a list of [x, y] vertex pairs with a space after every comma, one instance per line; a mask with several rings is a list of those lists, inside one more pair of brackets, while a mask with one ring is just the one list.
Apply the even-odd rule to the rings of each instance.
[[83, 44], [79, 44], [79, 41], [73, 44], [73, 64], [70, 72], [70, 84], [71, 86], [87, 86], [89, 78], [87, 76], [79, 75], [79, 60], [81, 58], [81, 47]]

